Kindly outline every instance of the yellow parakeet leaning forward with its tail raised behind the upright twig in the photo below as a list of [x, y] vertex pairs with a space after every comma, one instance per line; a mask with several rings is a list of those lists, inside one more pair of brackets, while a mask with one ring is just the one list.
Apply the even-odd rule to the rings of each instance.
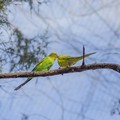
[[[88, 57], [95, 53], [96, 52], [86, 54], [84, 57]], [[83, 56], [71, 57], [66, 54], [63, 54], [63, 55], [58, 56], [58, 64], [61, 68], [66, 68], [66, 67], [70, 67], [74, 65], [75, 63], [77, 63], [79, 60], [82, 60], [82, 59], [83, 59]]]

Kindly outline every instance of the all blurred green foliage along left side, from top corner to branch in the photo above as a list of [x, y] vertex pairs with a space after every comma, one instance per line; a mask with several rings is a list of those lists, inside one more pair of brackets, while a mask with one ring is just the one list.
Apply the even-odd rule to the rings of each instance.
[[[29, 39], [24, 37], [22, 31], [11, 25], [6, 11], [7, 7], [15, 2], [28, 2], [30, 9], [33, 8], [33, 0], [0, 0], [0, 64], [9, 63], [9, 71], [29, 69], [41, 57], [46, 56], [48, 45], [48, 33], [46, 31]], [[40, 2], [38, 0], [37, 2], [42, 4], [45, 1]], [[3, 31], [9, 35], [7, 42], [3, 40]]]

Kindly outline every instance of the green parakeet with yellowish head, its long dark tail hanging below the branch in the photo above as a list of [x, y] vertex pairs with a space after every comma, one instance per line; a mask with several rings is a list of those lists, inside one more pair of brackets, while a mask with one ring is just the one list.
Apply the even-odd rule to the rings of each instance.
[[[32, 71], [48, 71], [54, 64], [54, 61], [58, 57], [56, 52], [51, 53], [47, 57], [43, 58]], [[33, 77], [29, 77], [25, 82], [16, 87], [14, 90], [20, 89], [23, 85], [28, 83]]]

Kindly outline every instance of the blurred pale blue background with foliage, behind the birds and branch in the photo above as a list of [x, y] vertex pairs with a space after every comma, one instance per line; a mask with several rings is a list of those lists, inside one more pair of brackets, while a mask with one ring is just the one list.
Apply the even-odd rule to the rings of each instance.
[[[120, 0], [0, 0], [1, 73], [31, 71], [54, 51], [81, 56], [83, 45], [96, 52], [86, 64], [120, 64]], [[0, 120], [120, 120], [115, 71], [36, 77], [14, 91], [25, 80], [0, 80]]]

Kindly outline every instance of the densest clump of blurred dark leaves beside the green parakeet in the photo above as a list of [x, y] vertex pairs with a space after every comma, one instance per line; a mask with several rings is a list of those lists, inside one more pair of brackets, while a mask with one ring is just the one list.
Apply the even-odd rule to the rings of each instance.
[[27, 70], [31, 65], [36, 64], [42, 56], [46, 56], [47, 32], [27, 39], [18, 29], [15, 29], [13, 37], [16, 37], [16, 40], [6, 48], [6, 52], [11, 58], [9, 61], [10, 71]]

